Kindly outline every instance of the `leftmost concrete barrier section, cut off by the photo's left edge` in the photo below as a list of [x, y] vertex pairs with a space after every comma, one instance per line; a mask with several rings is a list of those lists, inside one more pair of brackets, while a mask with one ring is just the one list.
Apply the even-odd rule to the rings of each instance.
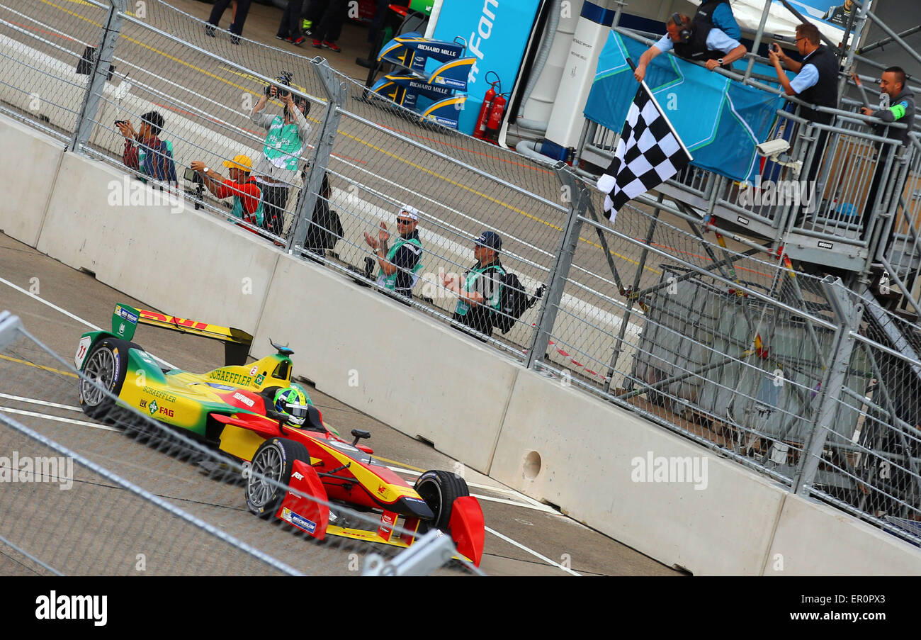
[[64, 157], [64, 143], [4, 118], [0, 125], [0, 157], [5, 160], [0, 229], [10, 238], [34, 247]]

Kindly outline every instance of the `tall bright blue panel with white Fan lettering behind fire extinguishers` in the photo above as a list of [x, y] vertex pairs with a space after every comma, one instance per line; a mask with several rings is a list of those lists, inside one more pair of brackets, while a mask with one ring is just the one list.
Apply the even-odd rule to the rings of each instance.
[[[453, 41], [460, 36], [467, 42], [464, 55], [476, 58], [458, 125], [464, 134], [473, 133], [484, 96], [491, 86], [486, 74], [495, 72], [503, 93], [515, 86], [540, 5], [541, 0], [450, 0], [441, 7], [433, 37]], [[426, 71], [433, 73], [437, 64], [432, 61], [429, 64]], [[495, 76], [489, 76], [495, 80]]]

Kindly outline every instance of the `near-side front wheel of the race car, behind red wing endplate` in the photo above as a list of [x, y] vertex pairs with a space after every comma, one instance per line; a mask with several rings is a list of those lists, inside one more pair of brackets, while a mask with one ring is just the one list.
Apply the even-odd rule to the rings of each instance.
[[295, 460], [310, 463], [307, 448], [294, 440], [271, 437], [256, 449], [246, 478], [246, 506], [252, 513], [260, 518], [274, 516], [287, 493], [285, 486], [275, 483], [290, 483]]

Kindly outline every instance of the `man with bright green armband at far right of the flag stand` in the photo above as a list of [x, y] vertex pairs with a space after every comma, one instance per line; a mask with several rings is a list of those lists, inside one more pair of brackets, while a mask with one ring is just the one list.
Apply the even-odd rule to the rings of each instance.
[[[885, 96], [885, 98], [883, 98]], [[888, 102], [889, 107], [880, 108], [873, 111], [868, 107], [861, 107], [860, 112], [864, 115], [871, 115], [879, 118], [886, 124], [892, 122], [901, 122], [907, 125], [907, 129], [898, 129], [896, 127], [886, 127], [886, 137], [891, 140], [899, 140], [902, 145], [907, 146], [909, 137], [912, 132], [912, 126], [915, 123], [915, 93], [908, 87], [905, 87], [905, 72], [901, 66], [891, 66], [882, 72], [880, 78], [880, 100], [883, 103]], [[873, 126], [873, 133], [882, 135], [883, 125], [876, 124]], [[872, 213], [873, 201], [876, 200], [877, 192], [880, 191], [883, 174], [886, 172], [886, 162], [889, 159], [890, 145], [874, 144], [877, 149], [876, 169], [873, 170], [873, 180], [870, 182], [869, 191], [867, 192], [867, 201], [864, 206], [864, 227], [869, 222], [869, 214]], [[899, 194], [893, 193], [893, 198], [898, 198]]]

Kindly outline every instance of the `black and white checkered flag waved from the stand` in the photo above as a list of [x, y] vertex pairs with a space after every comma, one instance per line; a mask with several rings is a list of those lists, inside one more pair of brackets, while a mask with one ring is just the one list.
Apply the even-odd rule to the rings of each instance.
[[604, 213], [613, 222], [627, 201], [669, 180], [693, 159], [649, 87], [641, 82], [611, 166], [598, 179], [598, 189], [608, 194]]

